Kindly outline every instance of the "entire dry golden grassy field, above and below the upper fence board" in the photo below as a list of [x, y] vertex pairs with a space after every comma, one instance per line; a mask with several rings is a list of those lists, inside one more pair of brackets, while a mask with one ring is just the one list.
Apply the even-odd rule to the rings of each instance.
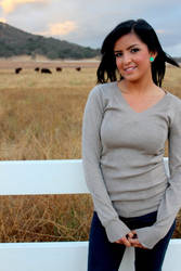
[[[36, 73], [34, 62], [1, 62], [1, 160], [81, 158], [82, 113], [98, 63], [39, 65], [52, 74]], [[180, 85], [181, 70], [168, 67], [164, 88], [181, 98]], [[0, 242], [88, 240], [91, 214], [89, 195], [1, 196]], [[181, 237], [180, 221], [179, 214], [174, 237]]]

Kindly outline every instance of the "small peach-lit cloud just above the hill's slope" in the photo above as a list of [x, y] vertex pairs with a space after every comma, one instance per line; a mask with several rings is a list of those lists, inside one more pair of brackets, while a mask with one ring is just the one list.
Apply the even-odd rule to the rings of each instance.
[[48, 30], [39, 33], [43, 36], [62, 36], [68, 35], [77, 28], [77, 24], [74, 21], [65, 21], [64, 23], [49, 24]]

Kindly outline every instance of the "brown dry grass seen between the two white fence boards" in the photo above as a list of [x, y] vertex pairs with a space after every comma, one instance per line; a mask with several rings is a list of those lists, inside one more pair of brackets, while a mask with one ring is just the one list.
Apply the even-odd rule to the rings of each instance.
[[88, 195], [1, 196], [0, 242], [88, 240]]

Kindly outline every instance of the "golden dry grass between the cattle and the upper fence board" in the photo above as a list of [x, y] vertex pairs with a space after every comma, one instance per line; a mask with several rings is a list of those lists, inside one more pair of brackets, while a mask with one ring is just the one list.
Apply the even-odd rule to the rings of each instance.
[[1, 70], [0, 159], [80, 157], [82, 111], [94, 70]]

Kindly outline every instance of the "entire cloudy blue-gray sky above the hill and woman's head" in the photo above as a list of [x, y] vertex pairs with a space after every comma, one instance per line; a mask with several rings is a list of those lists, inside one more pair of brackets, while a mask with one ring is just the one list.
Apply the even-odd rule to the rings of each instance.
[[181, 56], [180, 0], [0, 0], [1, 22], [91, 48], [130, 18], [146, 20], [164, 50]]

